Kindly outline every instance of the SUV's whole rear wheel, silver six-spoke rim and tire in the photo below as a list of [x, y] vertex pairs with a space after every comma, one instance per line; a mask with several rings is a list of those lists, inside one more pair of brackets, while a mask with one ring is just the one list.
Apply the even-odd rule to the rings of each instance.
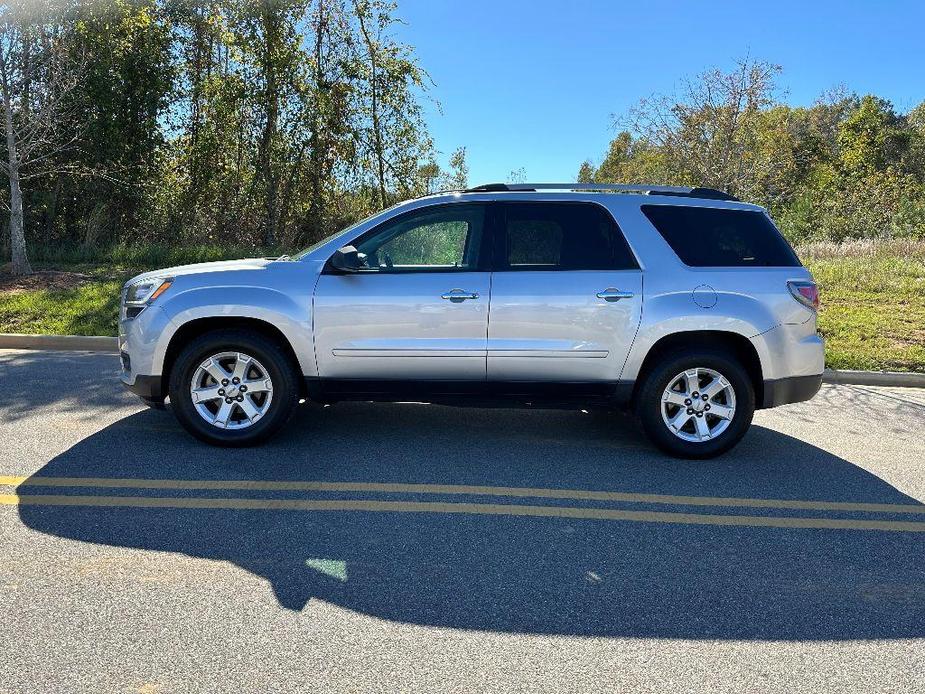
[[649, 370], [636, 408], [646, 434], [666, 453], [712, 458], [745, 435], [755, 411], [755, 390], [731, 355], [682, 351]]

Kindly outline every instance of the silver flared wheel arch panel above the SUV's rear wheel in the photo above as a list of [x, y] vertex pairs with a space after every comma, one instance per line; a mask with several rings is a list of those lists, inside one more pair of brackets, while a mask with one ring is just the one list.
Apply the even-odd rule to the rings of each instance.
[[[646, 355], [656, 342], [668, 335], [714, 331], [734, 333], [751, 339], [776, 325], [778, 322], [767, 306], [743, 294], [717, 293], [716, 303], [710, 308], [696, 304], [691, 292], [646, 298], [642, 321], [620, 378], [635, 381]], [[758, 344], [756, 349], [764, 371], [768, 351]]]

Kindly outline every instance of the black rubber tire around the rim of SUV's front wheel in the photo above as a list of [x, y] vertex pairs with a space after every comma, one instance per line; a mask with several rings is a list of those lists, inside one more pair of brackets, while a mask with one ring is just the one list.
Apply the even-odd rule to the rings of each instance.
[[[190, 395], [196, 369], [221, 352], [243, 352], [266, 369], [272, 380], [273, 399], [266, 415], [243, 429], [221, 429], [203, 419]], [[292, 416], [299, 399], [298, 370], [276, 341], [249, 330], [215, 330], [188, 344], [173, 364], [169, 393], [171, 409], [183, 428], [215, 446], [252, 446], [279, 431]]]

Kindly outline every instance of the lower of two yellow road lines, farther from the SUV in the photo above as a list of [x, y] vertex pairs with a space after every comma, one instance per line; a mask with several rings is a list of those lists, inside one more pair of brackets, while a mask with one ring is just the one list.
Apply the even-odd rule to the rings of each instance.
[[725, 516], [623, 509], [527, 506], [520, 504], [470, 504], [428, 501], [368, 501], [327, 499], [206, 499], [144, 496], [70, 496], [58, 494], [4, 494], [0, 505], [10, 506], [103, 506], [171, 509], [219, 509], [258, 511], [372, 511], [380, 513], [466, 513], [496, 516], [537, 516], [591, 520], [735, 525], [765, 528], [826, 528], [836, 530], [886, 530], [925, 532], [925, 523], [911, 521], [848, 520], [837, 518], [782, 518], [774, 516]]

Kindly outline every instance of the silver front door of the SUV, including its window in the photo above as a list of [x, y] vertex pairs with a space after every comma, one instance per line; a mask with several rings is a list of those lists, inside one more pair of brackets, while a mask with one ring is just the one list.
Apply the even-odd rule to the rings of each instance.
[[485, 380], [485, 215], [473, 203], [420, 208], [353, 241], [364, 269], [325, 269], [315, 290], [319, 375]]

